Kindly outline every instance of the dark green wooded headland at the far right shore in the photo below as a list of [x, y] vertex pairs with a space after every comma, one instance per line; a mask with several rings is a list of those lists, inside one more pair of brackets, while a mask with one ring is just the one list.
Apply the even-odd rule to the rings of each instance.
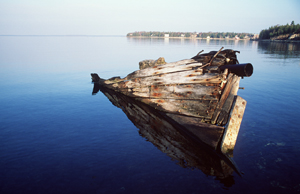
[[299, 34], [300, 24], [291, 24], [271, 26], [269, 29], [264, 29], [259, 33], [259, 39], [271, 39], [280, 35]]

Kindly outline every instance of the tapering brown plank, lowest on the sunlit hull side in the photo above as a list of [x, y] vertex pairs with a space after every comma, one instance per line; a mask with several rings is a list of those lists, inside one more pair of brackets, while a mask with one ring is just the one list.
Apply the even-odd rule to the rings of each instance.
[[157, 110], [211, 119], [217, 100], [139, 99]]

